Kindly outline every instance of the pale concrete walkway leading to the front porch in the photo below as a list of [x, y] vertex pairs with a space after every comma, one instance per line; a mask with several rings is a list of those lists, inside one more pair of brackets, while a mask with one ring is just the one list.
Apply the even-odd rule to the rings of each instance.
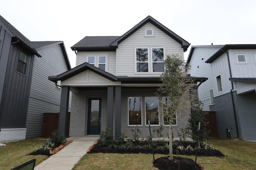
[[72, 143], [35, 166], [34, 170], [71, 170], [98, 138], [70, 137], [68, 140], [72, 139]]

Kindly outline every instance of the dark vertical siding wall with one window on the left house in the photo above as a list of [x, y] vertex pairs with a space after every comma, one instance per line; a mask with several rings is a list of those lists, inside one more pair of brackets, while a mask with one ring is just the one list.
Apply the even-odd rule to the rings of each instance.
[[2, 128], [24, 128], [26, 125], [34, 55], [26, 52], [28, 63], [26, 75], [24, 75], [16, 71], [20, 50], [26, 52], [18, 43], [11, 45], [0, 110], [0, 127]]

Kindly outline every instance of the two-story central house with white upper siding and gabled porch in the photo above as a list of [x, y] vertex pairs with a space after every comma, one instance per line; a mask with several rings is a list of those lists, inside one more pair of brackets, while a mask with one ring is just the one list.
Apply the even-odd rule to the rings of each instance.
[[[184, 58], [189, 45], [151, 16], [122, 36], [86, 36], [71, 47], [77, 53], [76, 67], [49, 77], [62, 85], [59, 130], [66, 129], [71, 90], [70, 136], [99, 135], [106, 127], [114, 130], [115, 138], [121, 133], [132, 136], [135, 128], [140, 129], [141, 137], [148, 136], [148, 120], [152, 127], [160, 127], [164, 121], [156, 97], [157, 87], [162, 85], [163, 61], [172, 54]], [[186, 126], [189, 113], [187, 109], [178, 118], [174, 136]], [[163, 131], [165, 137], [168, 129]]]

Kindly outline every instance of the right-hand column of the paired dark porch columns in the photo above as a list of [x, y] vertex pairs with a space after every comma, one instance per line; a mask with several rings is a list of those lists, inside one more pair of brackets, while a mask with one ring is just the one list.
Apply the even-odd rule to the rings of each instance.
[[115, 86], [115, 139], [121, 134], [121, 86]]

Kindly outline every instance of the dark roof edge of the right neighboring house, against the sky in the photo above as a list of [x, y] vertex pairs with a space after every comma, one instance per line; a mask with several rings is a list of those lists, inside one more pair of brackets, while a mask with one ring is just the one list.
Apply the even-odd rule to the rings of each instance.
[[217, 51], [212, 57], [206, 60], [206, 63], [212, 63], [222, 54], [224, 54], [228, 49], [256, 49], [256, 44], [227, 44], [224, 45], [219, 51]]

